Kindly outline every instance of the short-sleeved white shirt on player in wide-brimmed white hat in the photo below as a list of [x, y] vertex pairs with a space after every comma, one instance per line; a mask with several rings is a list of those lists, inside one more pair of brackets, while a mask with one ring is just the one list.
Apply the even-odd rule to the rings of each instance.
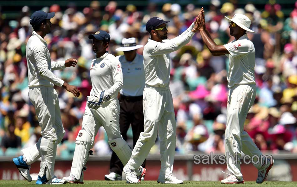
[[226, 54], [229, 57], [228, 88], [238, 84], [256, 84], [255, 47], [247, 34], [224, 46], [230, 53]]

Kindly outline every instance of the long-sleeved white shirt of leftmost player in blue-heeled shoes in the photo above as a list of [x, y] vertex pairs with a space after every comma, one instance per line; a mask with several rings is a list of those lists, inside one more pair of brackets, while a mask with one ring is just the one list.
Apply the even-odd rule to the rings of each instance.
[[35, 31], [29, 38], [26, 46], [26, 57], [28, 66], [28, 87], [48, 86], [54, 84], [62, 86], [64, 81], [53, 74], [52, 70], [65, 68], [65, 61], [51, 62], [48, 45]]

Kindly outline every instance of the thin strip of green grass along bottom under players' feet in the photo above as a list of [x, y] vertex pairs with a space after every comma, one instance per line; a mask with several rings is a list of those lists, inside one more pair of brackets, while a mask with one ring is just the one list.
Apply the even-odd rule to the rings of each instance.
[[[35, 184], [36, 181], [32, 181], [32, 182], [27, 182], [25, 180], [0, 180], [0, 186], [5, 186], [5, 187], [23, 187], [23, 186], [31, 186]], [[63, 186], [72, 186], [73, 187], [74, 184], [65, 184]], [[128, 186], [128, 185], [133, 185], [133, 184], [126, 184], [125, 181], [105, 181], [105, 180], [86, 180], [84, 181], [83, 185], [87, 185], [87, 186], [98, 186], [100, 185], [100, 187], [111, 187], [111, 186]], [[157, 181], [152, 181], [152, 180], [147, 180], [147, 181], [142, 181], [141, 184], [139, 184], [142, 187], [153, 187], [153, 186], [177, 186], [177, 185], [171, 185], [171, 184], [158, 184]], [[185, 186], [185, 187], [198, 187], [198, 186], [202, 186], [202, 187], [207, 187], [207, 186], [229, 186], [229, 185], [222, 185], [220, 184], [219, 181], [185, 181], [184, 184], [179, 184], [181, 186]], [[296, 187], [297, 186], [297, 182], [283, 182], [283, 181], [265, 181], [262, 184], [256, 184], [255, 181], [245, 181], [244, 184], [236, 184], [236, 186], [248, 186], [248, 187], [262, 187], [262, 186], [285, 186], [285, 187]], [[74, 185], [74, 186], [78, 186], [78, 185]], [[80, 185], [79, 185], [80, 186]], [[134, 185], [135, 186], [135, 185]], [[234, 185], [232, 185], [234, 186]]]

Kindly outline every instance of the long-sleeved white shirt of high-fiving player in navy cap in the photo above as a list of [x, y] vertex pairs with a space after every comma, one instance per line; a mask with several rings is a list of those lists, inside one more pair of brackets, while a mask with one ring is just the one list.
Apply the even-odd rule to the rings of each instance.
[[145, 84], [154, 87], [169, 87], [169, 53], [189, 43], [194, 36], [194, 32], [191, 31], [193, 27], [194, 23], [182, 34], [171, 40], [158, 42], [148, 39], [148, 43], [143, 49]]

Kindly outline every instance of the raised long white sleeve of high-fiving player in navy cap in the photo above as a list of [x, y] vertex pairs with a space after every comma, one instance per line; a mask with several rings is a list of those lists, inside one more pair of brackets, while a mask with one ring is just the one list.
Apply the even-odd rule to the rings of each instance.
[[163, 55], [178, 50], [182, 46], [189, 43], [194, 36], [194, 32], [188, 31], [183, 36], [179, 35], [171, 40], [163, 40], [164, 42], [150, 42], [146, 47], [150, 55]]

